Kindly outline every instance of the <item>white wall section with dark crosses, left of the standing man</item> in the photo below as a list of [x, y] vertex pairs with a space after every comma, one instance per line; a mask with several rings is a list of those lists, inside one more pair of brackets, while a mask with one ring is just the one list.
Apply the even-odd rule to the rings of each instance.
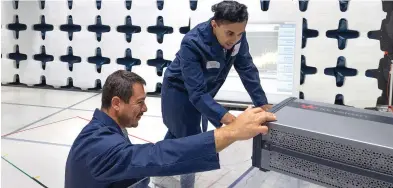
[[157, 91], [190, 30], [190, 4], [3, 1], [2, 83], [99, 89], [126, 69], [146, 80], [147, 92]]

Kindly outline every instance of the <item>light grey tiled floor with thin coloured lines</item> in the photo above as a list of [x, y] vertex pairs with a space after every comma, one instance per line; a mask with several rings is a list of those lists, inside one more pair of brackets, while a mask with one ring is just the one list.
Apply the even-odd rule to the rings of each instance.
[[[63, 187], [69, 148], [100, 106], [101, 95], [5, 86], [1, 90], [1, 187], [42, 187], [32, 178], [50, 188]], [[133, 143], [157, 142], [166, 133], [160, 99], [148, 98], [147, 105], [138, 128], [128, 130]], [[251, 167], [251, 151], [251, 140], [231, 145], [220, 153], [221, 169], [198, 173], [196, 187], [228, 187]], [[309, 187], [274, 172], [252, 171], [251, 176], [237, 187]], [[165, 181], [171, 182], [168, 187], [179, 187], [177, 177]]]

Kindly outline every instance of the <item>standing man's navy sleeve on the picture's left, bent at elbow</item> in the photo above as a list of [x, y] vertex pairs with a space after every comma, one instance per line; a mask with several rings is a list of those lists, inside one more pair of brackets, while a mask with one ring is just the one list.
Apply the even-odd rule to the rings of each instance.
[[227, 109], [218, 104], [207, 92], [202, 60], [197, 55], [196, 45], [191, 40], [183, 41], [178, 58], [190, 102], [213, 122], [221, 122]]

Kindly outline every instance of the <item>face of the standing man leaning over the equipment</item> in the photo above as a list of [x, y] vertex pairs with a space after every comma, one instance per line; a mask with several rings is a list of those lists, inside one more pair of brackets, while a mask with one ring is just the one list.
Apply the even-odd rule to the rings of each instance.
[[218, 24], [215, 20], [212, 20], [211, 24], [218, 42], [222, 47], [229, 50], [241, 39], [242, 34], [246, 30], [247, 22], [222, 22]]

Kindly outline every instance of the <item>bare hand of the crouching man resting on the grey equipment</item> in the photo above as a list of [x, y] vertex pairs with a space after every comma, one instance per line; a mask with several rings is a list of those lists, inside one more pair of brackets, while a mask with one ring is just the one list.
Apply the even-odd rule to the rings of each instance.
[[232, 123], [215, 130], [216, 151], [220, 152], [235, 141], [248, 140], [258, 134], [266, 134], [268, 128], [263, 124], [275, 120], [274, 114], [262, 108], [248, 107]]

